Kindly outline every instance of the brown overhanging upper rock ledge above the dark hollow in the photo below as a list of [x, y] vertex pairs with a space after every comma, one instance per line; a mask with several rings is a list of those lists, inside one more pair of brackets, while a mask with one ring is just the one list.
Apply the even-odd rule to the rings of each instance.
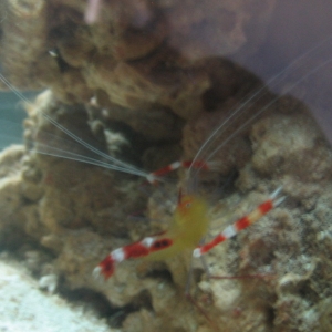
[[209, 86], [188, 54], [238, 51], [263, 34], [274, 1], [260, 10], [242, 0], [204, 7], [197, 0], [111, 1], [92, 25], [84, 22], [82, 1], [3, 1], [1, 62], [15, 86], [48, 86], [65, 102], [96, 96], [102, 106], [163, 107], [188, 117], [201, 108], [199, 96]]

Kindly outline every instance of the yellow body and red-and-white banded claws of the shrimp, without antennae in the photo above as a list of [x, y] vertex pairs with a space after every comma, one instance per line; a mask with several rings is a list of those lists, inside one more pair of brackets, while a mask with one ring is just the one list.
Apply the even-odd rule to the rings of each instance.
[[[185, 164], [189, 164], [191, 166], [191, 163], [188, 162], [176, 163], [176, 165], [180, 164], [183, 166]], [[167, 168], [173, 169], [175, 167], [172, 167], [170, 165]], [[205, 165], [205, 168], [208, 169], [207, 164]], [[158, 173], [159, 172], [156, 172], [154, 174]], [[278, 197], [280, 191], [281, 187], [273, 191], [269, 199], [260, 204], [249, 215], [243, 216], [234, 225], [228, 226], [211, 241], [198, 247], [197, 245], [208, 231], [208, 225], [210, 221], [208, 219], [208, 205], [201, 197], [197, 197], [193, 194], [184, 196], [179, 194], [178, 204], [174, 211], [172, 224], [165, 234], [156, 237], [147, 237], [136, 243], [113, 250], [94, 269], [93, 272], [96, 277], [102, 274], [105, 279], [108, 279], [115, 272], [116, 263], [126, 259], [148, 257], [149, 260], [164, 260], [186, 249], [191, 249], [193, 256], [198, 258], [207, 253], [215, 246], [236, 236], [239, 231], [258, 221], [272, 208], [278, 206], [284, 199], [284, 197]]]

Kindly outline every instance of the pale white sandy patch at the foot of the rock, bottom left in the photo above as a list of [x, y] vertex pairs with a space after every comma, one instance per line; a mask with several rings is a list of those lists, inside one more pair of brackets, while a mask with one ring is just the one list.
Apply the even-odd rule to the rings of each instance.
[[0, 331], [116, 332], [81, 308], [40, 291], [23, 269], [0, 261]]

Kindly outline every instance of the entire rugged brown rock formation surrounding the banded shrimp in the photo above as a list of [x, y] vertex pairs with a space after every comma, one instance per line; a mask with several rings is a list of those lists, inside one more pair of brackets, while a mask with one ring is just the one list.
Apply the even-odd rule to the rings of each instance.
[[[27, 105], [25, 146], [0, 155], [1, 246], [41, 288], [102, 294], [110, 324], [127, 332], [329, 331], [331, 148], [309, 106], [222, 56], [249, 59], [276, 3], [114, 0], [86, 22], [85, 1], [0, 2], [6, 77], [49, 89]], [[196, 305], [185, 297], [190, 252], [125, 261], [110, 281], [95, 280], [111, 249], [167, 228], [178, 190], [169, 181], [143, 193], [144, 179], [94, 163], [107, 155], [135, 173], [194, 158], [230, 115], [198, 154], [214, 174], [190, 173], [211, 204], [211, 234], [276, 188], [286, 196], [207, 256], [214, 276], [242, 278], [209, 279], [195, 260]], [[184, 173], [174, 179], [184, 187]], [[131, 216], [142, 210], [149, 220]]]

